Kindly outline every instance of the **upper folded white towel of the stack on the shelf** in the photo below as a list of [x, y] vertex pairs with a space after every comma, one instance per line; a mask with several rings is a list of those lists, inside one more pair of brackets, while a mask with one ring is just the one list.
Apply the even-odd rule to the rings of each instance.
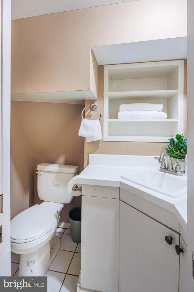
[[163, 104], [161, 103], [127, 103], [119, 106], [119, 111], [127, 110], [153, 110], [162, 112]]

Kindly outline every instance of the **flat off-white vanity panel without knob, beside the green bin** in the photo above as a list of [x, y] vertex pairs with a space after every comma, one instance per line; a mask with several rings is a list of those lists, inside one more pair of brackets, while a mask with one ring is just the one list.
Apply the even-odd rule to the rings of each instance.
[[119, 290], [119, 199], [82, 196], [81, 287]]

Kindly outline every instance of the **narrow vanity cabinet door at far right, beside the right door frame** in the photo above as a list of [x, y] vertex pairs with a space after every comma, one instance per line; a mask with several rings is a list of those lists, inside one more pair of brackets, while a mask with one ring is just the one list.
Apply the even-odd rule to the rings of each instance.
[[187, 246], [182, 237], [180, 236], [180, 248], [183, 249], [183, 253], [180, 254], [179, 262], [179, 292], [185, 292], [187, 286]]

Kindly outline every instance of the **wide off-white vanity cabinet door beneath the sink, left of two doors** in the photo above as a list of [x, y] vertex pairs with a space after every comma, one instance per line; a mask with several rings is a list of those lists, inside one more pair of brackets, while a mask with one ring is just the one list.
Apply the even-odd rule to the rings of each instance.
[[178, 233], [120, 201], [119, 236], [119, 292], [179, 291]]

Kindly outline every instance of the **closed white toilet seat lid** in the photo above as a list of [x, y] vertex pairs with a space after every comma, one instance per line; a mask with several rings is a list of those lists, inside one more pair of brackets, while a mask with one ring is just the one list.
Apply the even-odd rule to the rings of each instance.
[[25, 243], [43, 237], [58, 224], [59, 211], [52, 204], [34, 205], [11, 221], [11, 242]]

